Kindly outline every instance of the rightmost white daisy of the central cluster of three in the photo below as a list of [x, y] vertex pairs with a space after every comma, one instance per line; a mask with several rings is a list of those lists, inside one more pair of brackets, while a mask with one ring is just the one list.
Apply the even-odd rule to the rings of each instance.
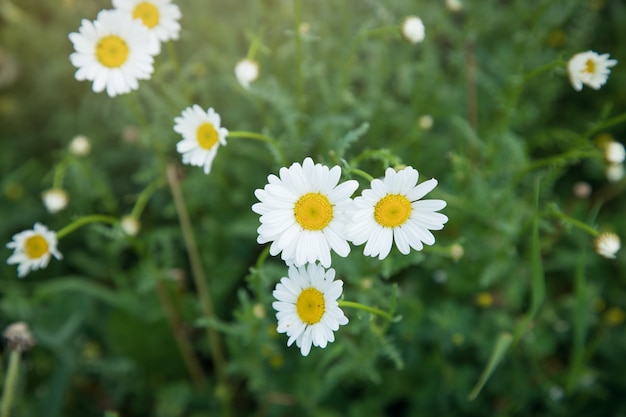
[[441, 230], [448, 217], [436, 211], [446, 206], [443, 200], [421, 200], [437, 186], [434, 178], [417, 185], [418, 172], [406, 167], [396, 172], [387, 168], [385, 178], [375, 179], [371, 189], [354, 199], [356, 209], [348, 227], [355, 245], [365, 243], [366, 256], [384, 259], [393, 242], [403, 254], [410, 248], [422, 250], [432, 245], [430, 230]]

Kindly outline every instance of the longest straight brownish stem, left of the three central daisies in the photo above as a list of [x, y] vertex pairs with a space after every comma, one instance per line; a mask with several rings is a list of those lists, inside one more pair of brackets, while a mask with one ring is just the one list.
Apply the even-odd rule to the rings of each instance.
[[[202, 260], [200, 258], [200, 252], [198, 251], [198, 245], [196, 244], [196, 238], [193, 234], [193, 228], [187, 213], [187, 205], [183, 197], [178, 175], [176, 173], [176, 166], [170, 164], [167, 166], [167, 180], [172, 191], [172, 197], [174, 198], [174, 205], [176, 206], [176, 213], [178, 214], [178, 220], [180, 222], [180, 228], [183, 233], [183, 239], [185, 241], [185, 247], [187, 248], [187, 255], [189, 256], [189, 263], [191, 264], [191, 273], [198, 291], [198, 298], [200, 301], [200, 307], [202, 314], [206, 319], [217, 319], [215, 310], [213, 308], [213, 302], [207, 285], [207, 280], [204, 274], [204, 268], [202, 267]], [[217, 380], [224, 389], [226, 396], [221, 397], [224, 402], [225, 411], [228, 415], [232, 414], [230, 409], [230, 400], [228, 391], [228, 381], [226, 379], [224, 353], [222, 351], [222, 342], [220, 334], [215, 331], [211, 326], [206, 327], [207, 338], [211, 347], [211, 355], [213, 357], [213, 364], [215, 366], [215, 373]]]

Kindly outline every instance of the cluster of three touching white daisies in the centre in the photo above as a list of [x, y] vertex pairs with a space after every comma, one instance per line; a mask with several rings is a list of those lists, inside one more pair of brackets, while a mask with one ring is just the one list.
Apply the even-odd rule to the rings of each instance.
[[[418, 171], [388, 168], [382, 179], [352, 199], [359, 184], [340, 182], [341, 168], [314, 163], [306, 158], [255, 192], [252, 210], [261, 225], [257, 241], [271, 243], [269, 253], [289, 266], [274, 290], [278, 332], [289, 336], [302, 355], [311, 345], [326, 347], [333, 331], [348, 319], [338, 307], [343, 282], [335, 281], [330, 268], [331, 252], [346, 257], [353, 245], [365, 245], [366, 256], [386, 258], [395, 245], [402, 254], [435, 243], [431, 230], [441, 230], [448, 217], [438, 213], [443, 200], [423, 199], [437, 186], [429, 179], [418, 184]], [[329, 269], [326, 269], [329, 268]]]

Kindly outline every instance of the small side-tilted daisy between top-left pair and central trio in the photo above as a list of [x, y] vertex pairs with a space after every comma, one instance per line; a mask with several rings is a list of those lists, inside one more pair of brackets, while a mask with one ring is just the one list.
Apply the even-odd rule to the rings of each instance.
[[174, 119], [174, 131], [183, 136], [176, 144], [176, 150], [183, 155], [183, 163], [193, 166], [204, 166], [204, 173], [211, 172], [213, 159], [220, 145], [226, 146], [228, 130], [220, 127], [221, 118], [209, 108], [194, 104], [183, 110], [181, 117]]

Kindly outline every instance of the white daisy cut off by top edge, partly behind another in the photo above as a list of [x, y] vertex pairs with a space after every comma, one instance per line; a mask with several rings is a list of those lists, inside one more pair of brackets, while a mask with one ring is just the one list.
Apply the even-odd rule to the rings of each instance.
[[170, 0], [113, 0], [113, 7], [141, 20], [154, 35], [158, 51], [161, 42], [178, 39], [182, 14]]

